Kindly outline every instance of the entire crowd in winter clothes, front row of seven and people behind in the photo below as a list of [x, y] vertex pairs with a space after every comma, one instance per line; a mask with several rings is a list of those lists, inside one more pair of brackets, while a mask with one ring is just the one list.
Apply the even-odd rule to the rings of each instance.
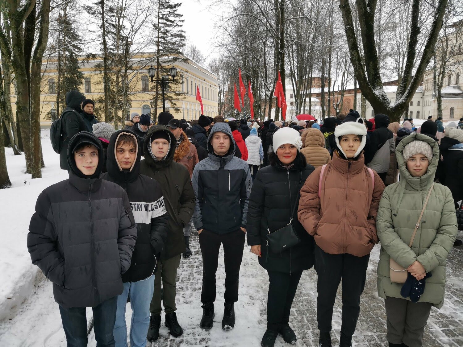
[[[369, 254], [380, 242], [378, 294], [389, 346], [422, 346], [431, 307], [443, 305], [445, 260], [458, 230], [463, 196], [450, 186], [455, 171], [446, 170], [450, 158], [463, 160], [463, 130], [445, 130], [449, 140], [439, 149], [423, 126], [399, 141], [401, 128], [394, 135], [386, 115], [376, 115], [369, 131], [351, 111], [321, 127], [244, 120], [238, 126], [203, 115], [188, 124], [163, 112], [158, 124], [132, 115], [130, 129], [113, 131], [96, 122], [81, 127], [87, 125], [78, 112], [87, 105], [81, 97], [69, 95], [74, 110], [62, 116], [60, 161], [69, 179], [39, 195], [27, 239], [32, 262], [53, 283], [68, 346], [87, 346], [86, 307], [93, 309], [97, 346], [127, 346], [128, 301], [132, 347], [159, 338], [163, 308], [170, 335], [181, 336], [177, 269], [181, 254], [191, 256], [191, 223], [203, 260], [201, 328], [213, 328], [221, 245], [222, 329], [234, 327], [247, 238], [269, 275], [261, 346], [274, 346], [278, 335], [297, 340], [290, 311], [311, 267], [318, 275], [319, 346], [332, 346], [341, 280], [339, 345], [352, 346]], [[439, 166], [445, 176], [438, 176]], [[391, 167], [400, 181], [395, 174], [387, 182]]]

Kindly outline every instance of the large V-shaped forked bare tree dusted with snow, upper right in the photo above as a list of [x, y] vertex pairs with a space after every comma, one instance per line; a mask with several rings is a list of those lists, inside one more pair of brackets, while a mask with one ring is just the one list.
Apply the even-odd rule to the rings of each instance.
[[[339, 0], [354, 75], [362, 94], [369, 101], [375, 113], [388, 114], [391, 120], [397, 121], [407, 110], [407, 105], [420, 85], [425, 70], [434, 54], [434, 47], [442, 28], [447, 2], [448, 0], [435, 0], [432, 3], [423, 0], [412, 0], [410, 30], [408, 37], [404, 37], [404, 40], [408, 42], [407, 57], [397, 87], [397, 97], [394, 104], [390, 105], [390, 101], [383, 89], [377, 51], [379, 42], [375, 32], [377, 0], [356, 0], [363, 56], [360, 53], [359, 42], [354, 30], [350, 1]], [[430, 17], [432, 22], [429, 30], [424, 30], [424, 25], [420, 19], [422, 6], [432, 7]], [[423, 31], [427, 32], [427, 37], [425, 45], [420, 51], [417, 43], [419, 37], [423, 35]], [[363, 59], [365, 66], [362, 63]]]

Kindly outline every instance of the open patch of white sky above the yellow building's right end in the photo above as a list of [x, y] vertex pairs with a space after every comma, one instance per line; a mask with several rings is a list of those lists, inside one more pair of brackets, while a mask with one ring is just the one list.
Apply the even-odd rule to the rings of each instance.
[[193, 43], [206, 56], [206, 63], [214, 53], [214, 40], [217, 29], [215, 24], [223, 6], [210, 6], [213, 0], [178, 0], [181, 2], [179, 12], [183, 14], [183, 30], [187, 44]]

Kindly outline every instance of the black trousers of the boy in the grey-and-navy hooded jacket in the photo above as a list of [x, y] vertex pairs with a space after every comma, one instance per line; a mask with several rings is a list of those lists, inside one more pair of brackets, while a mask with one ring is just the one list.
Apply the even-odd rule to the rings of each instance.
[[239, 268], [243, 260], [245, 234], [238, 229], [227, 234], [217, 234], [213, 231], [201, 231], [199, 235], [203, 260], [203, 286], [201, 302], [203, 304], [215, 301], [215, 273], [219, 264], [220, 245], [224, 245], [225, 263], [225, 303], [233, 304], [238, 301]]

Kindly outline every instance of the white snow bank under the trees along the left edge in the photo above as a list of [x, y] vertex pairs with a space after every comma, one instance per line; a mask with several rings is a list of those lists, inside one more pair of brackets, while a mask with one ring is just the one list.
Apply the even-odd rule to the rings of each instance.
[[42, 149], [46, 168], [42, 179], [31, 180], [25, 174], [24, 155], [13, 155], [6, 148], [6, 165], [13, 187], [0, 190], [0, 321], [12, 318], [19, 305], [34, 289], [38, 267], [32, 265], [26, 240], [38, 195], [48, 186], [68, 178], [59, 167], [59, 155], [51, 148], [50, 130], [42, 132]]

